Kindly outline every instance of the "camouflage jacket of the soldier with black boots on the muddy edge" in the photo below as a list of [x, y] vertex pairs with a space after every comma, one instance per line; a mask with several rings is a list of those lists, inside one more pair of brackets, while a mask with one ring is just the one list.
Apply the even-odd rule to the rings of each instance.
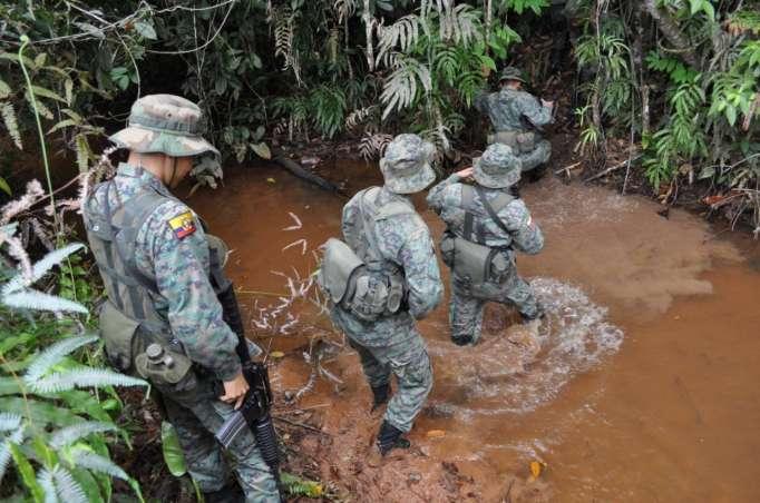
[[[359, 193], [343, 207], [341, 225], [343, 238], [354, 250], [369, 247], [359, 206], [359, 197], [363, 194], [364, 191]], [[340, 307], [333, 309], [333, 317], [341, 328], [366, 346], [403, 342], [410, 336], [409, 328], [413, 324], [413, 318], [425, 317], [440, 303], [444, 295], [438, 260], [427, 225], [413, 211], [413, 206], [407, 197], [386, 188], [380, 189], [374, 206], [380, 207], [392, 200], [403, 201], [412, 211], [374, 220], [373, 231], [380, 255], [386, 260], [384, 267], [388, 267], [388, 272], [396, 268], [403, 272], [409, 309], [370, 323], [357, 319]]]

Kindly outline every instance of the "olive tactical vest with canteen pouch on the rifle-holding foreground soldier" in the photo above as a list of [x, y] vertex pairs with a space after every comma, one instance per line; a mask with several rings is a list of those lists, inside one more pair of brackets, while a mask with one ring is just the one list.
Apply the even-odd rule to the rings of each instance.
[[[160, 205], [175, 199], [147, 187], [126, 205], [113, 208], [108, 196], [116, 190], [114, 181], [101, 184], [94, 194], [98, 190], [106, 191], [104, 213], [85, 213], [85, 227], [108, 297], [99, 313], [108, 359], [120, 372], [137, 373], [175, 398], [183, 393], [189, 396], [196, 385], [193, 362], [155, 308], [154, 298], [159, 295], [155, 279], [135, 263], [140, 228]], [[213, 236], [208, 241], [210, 279], [218, 295], [231, 285], [222, 272], [224, 251], [220, 248], [224, 245]]]

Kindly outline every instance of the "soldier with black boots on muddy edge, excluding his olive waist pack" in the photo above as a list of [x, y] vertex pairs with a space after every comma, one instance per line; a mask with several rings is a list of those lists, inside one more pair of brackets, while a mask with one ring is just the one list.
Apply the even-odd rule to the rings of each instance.
[[[391, 374], [396, 376], [398, 389], [386, 408], [374, 461], [378, 453], [384, 456], [393, 447], [409, 446], [401, 435], [411, 430], [432, 386], [430, 358], [415, 319], [440, 303], [442, 284], [428, 227], [408, 198], [436, 179], [429, 165], [432, 151], [432, 145], [417, 135], [397, 136], [380, 161], [384, 186], [360, 191], [343, 208], [341, 227], [349, 247], [366, 263], [376, 254], [383, 273], [402, 272], [407, 292], [399, 312], [373, 322], [340, 305], [331, 313], [359, 353], [373, 408], [388, 401]], [[393, 205], [401, 210], [383, 211]]]

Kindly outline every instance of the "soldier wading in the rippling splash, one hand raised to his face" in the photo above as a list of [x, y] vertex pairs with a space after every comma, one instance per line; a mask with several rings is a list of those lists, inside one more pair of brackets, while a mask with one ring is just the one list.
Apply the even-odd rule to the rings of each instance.
[[[464, 183], [470, 178], [474, 186]], [[508, 146], [494, 144], [475, 160], [474, 168], [451, 175], [428, 194], [428, 205], [446, 221], [447, 234], [481, 245], [491, 255], [489, 276], [481, 285], [472, 285], [471, 278], [465, 277], [455, 263], [449, 318], [451, 338], [458, 345], [478, 342], [483, 310], [489, 300], [516, 306], [526, 322], [543, 316], [530, 286], [519, 277], [515, 264], [515, 250], [534, 255], [544, 246], [544, 236], [525, 203], [509, 193], [519, 178], [519, 158]]]

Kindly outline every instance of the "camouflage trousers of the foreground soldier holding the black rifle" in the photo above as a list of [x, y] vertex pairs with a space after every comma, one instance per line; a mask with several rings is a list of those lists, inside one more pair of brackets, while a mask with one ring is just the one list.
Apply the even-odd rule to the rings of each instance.
[[[177, 431], [193, 480], [203, 492], [221, 490], [227, 482], [230, 467], [223, 448], [212, 432], [216, 432], [233, 413], [232, 405], [213, 398], [181, 405], [168, 396], [164, 396], [163, 402], [168, 421]], [[227, 454], [234, 463], [247, 503], [280, 501], [272, 471], [261, 457], [250, 430], [245, 428], [237, 434]]]

